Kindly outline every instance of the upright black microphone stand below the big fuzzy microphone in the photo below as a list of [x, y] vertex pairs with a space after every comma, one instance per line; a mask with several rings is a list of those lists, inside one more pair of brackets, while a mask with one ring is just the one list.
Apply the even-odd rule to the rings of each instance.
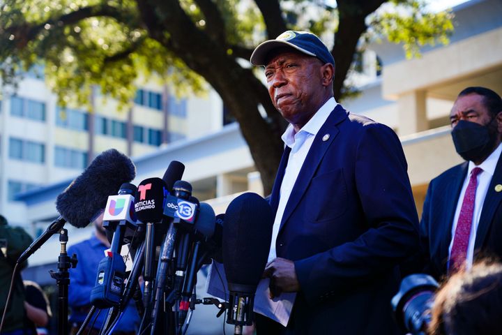
[[77, 255], [71, 258], [66, 253], [66, 244], [68, 243], [68, 230], [61, 228], [59, 230], [59, 241], [61, 242], [61, 253], [58, 258], [59, 271], [50, 270], [50, 276], [56, 279], [56, 285], [59, 288], [58, 295], [58, 334], [68, 334], [68, 285], [70, 285], [70, 274], [68, 269], [77, 266]]

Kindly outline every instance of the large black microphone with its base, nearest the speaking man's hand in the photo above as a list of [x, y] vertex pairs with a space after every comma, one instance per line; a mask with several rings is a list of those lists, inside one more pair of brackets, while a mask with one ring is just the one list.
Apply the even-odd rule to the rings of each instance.
[[273, 212], [256, 193], [243, 193], [232, 200], [223, 225], [223, 267], [227, 276], [229, 309], [227, 323], [242, 334], [251, 325], [254, 294], [270, 251]]

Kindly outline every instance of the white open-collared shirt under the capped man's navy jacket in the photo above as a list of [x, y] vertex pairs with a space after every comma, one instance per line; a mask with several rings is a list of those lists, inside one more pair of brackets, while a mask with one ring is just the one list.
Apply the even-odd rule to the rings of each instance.
[[275, 220], [272, 230], [272, 244], [270, 253], [268, 253], [268, 262], [277, 257], [275, 253], [275, 241], [277, 240], [277, 234], [279, 233], [280, 223], [282, 221], [282, 215], [284, 214], [284, 209], [289, 200], [289, 195], [291, 195], [291, 190], [293, 190], [298, 173], [300, 173], [301, 167], [305, 158], [307, 157], [310, 147], [312, 147], [312, 142], [314, 138], [321, 129], [321, 126], [326, 122], [330, 113], [335, 109], [337, 102], [335, 98], [330, 98], [324, 105], [319, 108], [317, 113], [312, 116], [305, 126], [303, 126], [298, 133], [295, 133], [293, 126], [290, 124], [284, 134], [282, 134], [282, 140], [284, 144], [291, 148], [289, 153], [289, 160], [286, 166], [286, 171], [284, 171], [284, 178], [282, 179], [282, 184], [279, 193], [279, 205], [277, 206], [277, 213], [275, 214]]

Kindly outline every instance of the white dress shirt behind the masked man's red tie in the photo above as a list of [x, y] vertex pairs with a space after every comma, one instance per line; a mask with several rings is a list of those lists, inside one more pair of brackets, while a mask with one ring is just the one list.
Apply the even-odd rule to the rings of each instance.
[[[467, 168], [467, 175], [464, 179], [464, 185], [462, 186], [462, 191], [460, 191], [459, 199], [457, 202], [457, 209], [455, 210], [455, 216], [453, 217], [452, 224], [452, 239], [450, 241], [450, 247], [448, 248], [448, 263], [450, 262], [451, 249], [453, 246], [453, 239], [455, 239], [455, 230], [457, 229], [457, 221], [460, 216], [460, 209], [462, 209], [462, 202], [464, 201], [464, 195], [466, 192], [467, 185], [469, 184], [469, 179], [471, 178], [471, 171], [473, 168], [481, 168], [482, 172], [478, 174], [478, 186], [476, 188], [476, 200], [474, 200], [474, 211], [473, 211], [473, 221], [471, 225], [471, 235], [469, 237], [469, 246], [467, 247], [466, 255], [466, 268], [471, 269], [474, 257], [474, 241], [476, 241], [476, 232], [478, 231], [479, 220], [482, 211], [483, 202], [485, 202], [485, 197], [488, 191], [488, 186], [495, 172], [496, 163], [499, 161], [499, 157], [502, 152], [502, 144], [488, 156], [485, 161], [480, 165], [475, 165], [473, 162], [469, 161], [469, 167]], [[448, 268], [450, 265], [448, 264]]]

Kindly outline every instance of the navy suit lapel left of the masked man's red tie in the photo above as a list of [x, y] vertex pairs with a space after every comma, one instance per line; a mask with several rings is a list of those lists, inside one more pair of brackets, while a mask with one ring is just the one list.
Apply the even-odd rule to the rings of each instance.
[[[445, 190], [440, 194], [442, 196], [452, 195], [450, 197], [446, 196], [445, 201], [445, 211], [446, 216], [444, 217], [445, 221], [442, 219], [439, 220], [439, 224], [441, 225], [442, 232], [439, 236], [444, 236], [441, 240], [441, 257], [439, 260], [447, 260], [448, 259], [448, 249], [450, 248], [450, 242], [452, 239], [452, 226], [453, 226], [453, 218], [455, 217], [455, 210], [457, 209], [457, 203], [459, 200], [460, 191], [462, 191], [462, 185], [464, 184], [464, 179], [467, 174], [467, 167], [469, 163], [465, 162], [460, 165], [460, 168], [457, 172], [457, 175], [450, 179], [448, 185], [446, 185]], [[441, 230], [441, 228], [439, 228]], [[446, 266], [446, 264], [445, 264]]]

